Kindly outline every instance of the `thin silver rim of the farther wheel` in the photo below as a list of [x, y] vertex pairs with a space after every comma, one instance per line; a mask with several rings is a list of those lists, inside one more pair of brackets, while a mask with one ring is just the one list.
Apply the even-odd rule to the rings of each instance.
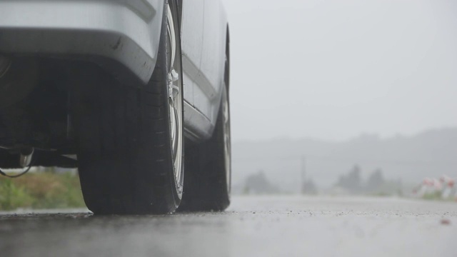
[[222, 115], [224, 122], [224, 162], [226, 165], [226, 183], [227, 191], [231, 191], [231, 140], [230, 140], [230, 109], [229, 109], [229, 92], [225, 92], [222, 99]]

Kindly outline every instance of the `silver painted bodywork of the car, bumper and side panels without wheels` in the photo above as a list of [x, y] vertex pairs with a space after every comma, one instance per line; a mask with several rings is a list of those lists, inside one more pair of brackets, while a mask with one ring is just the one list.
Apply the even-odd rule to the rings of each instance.
[[[156, 64], [164, 0], [2, 0], [0, 53], [81, 59], [146, 84]], [[229, 27], [220, 1], [182, 1], [184, 127], [196, 141], [216, 123]], [[205, 49], [205, 50], [204, 50]]]

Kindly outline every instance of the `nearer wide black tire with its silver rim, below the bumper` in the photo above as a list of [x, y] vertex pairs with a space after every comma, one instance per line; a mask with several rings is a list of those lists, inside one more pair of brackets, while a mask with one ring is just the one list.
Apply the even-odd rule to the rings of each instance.
[[146, 86], [121, 84], [96, 66], [74, 70], [79, 176], [95, 214], [171, 213], [179, 206], [184, 109], [177, 14], [174, 2], [166, 3], [156, 67]]

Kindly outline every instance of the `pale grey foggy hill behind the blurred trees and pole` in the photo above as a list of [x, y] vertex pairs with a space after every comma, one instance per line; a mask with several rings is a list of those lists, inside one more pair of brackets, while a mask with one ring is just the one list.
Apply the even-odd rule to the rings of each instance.
[[233, 185], [258, 170], [288, 191], [298, 191], [301, 156], [306, 176], [321, 187], [333, 185], [355, 164], [363, 178], [381, 168], [389, 179], [418, 183], [426, 176], [457, 177], [457, 128], [434, 129], [416, 136], [379, 138], [364, 134], [350, 141], [306, 139], [233, 142]]

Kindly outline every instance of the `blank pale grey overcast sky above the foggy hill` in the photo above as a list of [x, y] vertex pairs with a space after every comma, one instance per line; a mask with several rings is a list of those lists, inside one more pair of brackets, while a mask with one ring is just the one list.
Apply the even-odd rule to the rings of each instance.
[[457, 126], [457, 1], [224, 4], [233, 141]]

